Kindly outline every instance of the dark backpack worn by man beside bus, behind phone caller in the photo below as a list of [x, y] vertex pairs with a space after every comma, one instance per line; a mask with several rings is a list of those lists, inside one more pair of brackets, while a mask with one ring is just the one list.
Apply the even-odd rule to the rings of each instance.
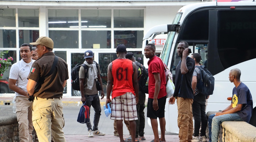
[[196, 88], [204, 95], [212, 95], [214, 90], [214, 77], [205, 66], [196, 66], [200, 69], [200, 80]]

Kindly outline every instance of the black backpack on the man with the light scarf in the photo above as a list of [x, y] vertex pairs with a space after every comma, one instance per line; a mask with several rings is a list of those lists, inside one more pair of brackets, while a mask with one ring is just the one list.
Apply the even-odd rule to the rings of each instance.
[[[95, 61], [93, 61], [95, 62]], [[99, 64], [97, 62], [96, 63], [96, 67], [97, 67], [97, 70], [99, 68]], [[75, 67], [72, 68], [71, 70], [71, 80], [72, 80], [72, 83], [71, 83], [71, 86], [74, 90], [78, 90], [80, 91], [80, 80], [79, 80], [79, 70], [80, 70], [80, 67], [83, 66], [85, 68], [85, 78], [87, 77], [87, 71], [88, 71], [88, 66], [86, 64], [76, 64]]]

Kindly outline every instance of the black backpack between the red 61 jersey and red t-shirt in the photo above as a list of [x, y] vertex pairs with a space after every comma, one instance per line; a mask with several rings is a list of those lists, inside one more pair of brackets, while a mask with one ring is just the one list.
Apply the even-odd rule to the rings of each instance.
[[138, 80], [140, 91], [148, 94], [149, 93], [149, 84], [148, 84], [149, 71], [144, 66], [141, 66], [141, 64], [136, 64], [136, 65], [141, 68], [141, 77]]

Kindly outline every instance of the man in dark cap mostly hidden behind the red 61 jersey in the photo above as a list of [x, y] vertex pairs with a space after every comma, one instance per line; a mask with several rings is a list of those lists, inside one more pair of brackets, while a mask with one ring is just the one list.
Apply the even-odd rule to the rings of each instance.
[[[143, 70], [145, 67], [136, 61], [134, 55], [131, 52], [128, 52], [125, 56], [126, 59], [132, 60], [132, 62], [135, 62], [135, 64], [138, 67], [138, 80], [141, 79], [141, 75], [144, 73]], [[139, 103], [136, 105], [137, 107], [137, 114], [138, 114], [138, 120], [135, 120], [136, 122], [136, 135], [135, 139], [138, 140], [146, 140], [144, 137], [144, 128], [145, 128], [145, 100], [146, 100], [146, 94], [141, 90], [141, 86], [139, 85]]]

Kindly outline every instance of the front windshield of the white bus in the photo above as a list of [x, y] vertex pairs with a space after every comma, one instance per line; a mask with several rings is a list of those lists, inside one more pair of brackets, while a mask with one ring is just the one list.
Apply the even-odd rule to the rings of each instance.
[[[172, 22], [172, 24], [178, 24], [180, 18], [181, 18], [182, 13], [178, 12]], [[171, 52], [171, 46], [173, 43], [173, 39], [174, 39], [174, 35], [175, 32], [169, 32], [167, 35], [167, 40], [166, 43], [163, 47], [163, 51], [160, 55], [160, 58], [163, 59], [163, 62], [167, 65], [168, 64], [168, 60], [169, 60], [169, 56], [170, 56], [170, 52]]]

